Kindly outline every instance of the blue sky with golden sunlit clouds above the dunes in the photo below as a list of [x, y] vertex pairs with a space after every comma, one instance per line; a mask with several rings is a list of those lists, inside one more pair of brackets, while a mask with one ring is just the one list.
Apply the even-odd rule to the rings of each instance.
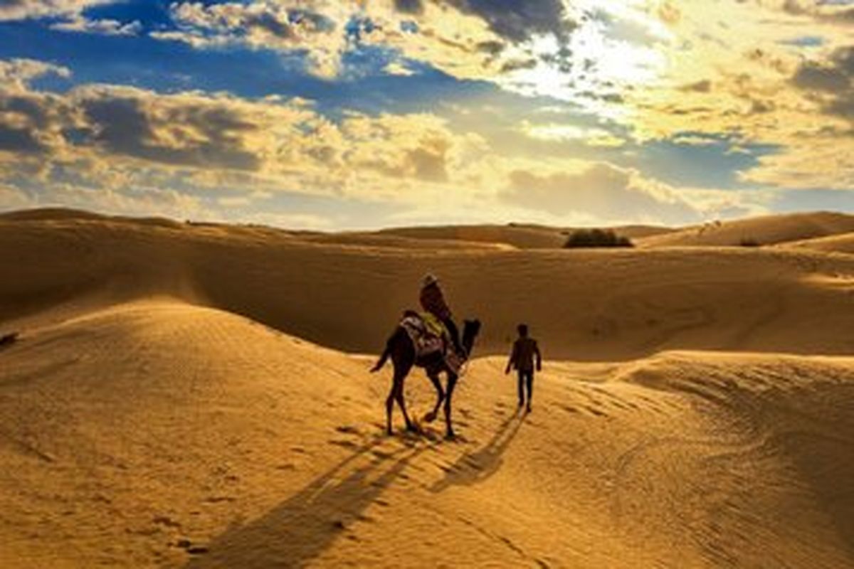
[[0, 211], [854, 213], [854, 0], [0, 0]]

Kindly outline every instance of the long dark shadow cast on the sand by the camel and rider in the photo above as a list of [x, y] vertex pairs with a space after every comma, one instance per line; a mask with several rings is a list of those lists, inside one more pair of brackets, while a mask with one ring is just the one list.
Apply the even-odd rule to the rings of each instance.
[[[404, 441], [379, 450], [375, 438], [260, 518], [229, 527], [184, 567], [305, 566], [348, 530], [427, 447]], [[367, 460], [367, 462], [365, 462]], [[390, 462], [390, 466], [389, 466]], [[351, 468], [351, 465], [360, 463]], [[340, 475], [343, 474], [341, 478]]]

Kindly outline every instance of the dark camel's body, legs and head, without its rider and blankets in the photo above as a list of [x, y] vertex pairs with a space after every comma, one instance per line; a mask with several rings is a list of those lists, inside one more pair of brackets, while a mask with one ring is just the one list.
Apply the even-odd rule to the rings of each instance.
[[[463, 324], [462, 345], [465, 352], [471, 357], [471, 349], [475, 345], [477, 334], [480, 333], [481, 322], [479, 320], [466, 320]], [[436, 406], [430, 413], [424, 415], [424, 421], [432, 422], [436, 420], [436, 415], [439, 413], [439, 407], [442, 402], [445, 404], [445, 425], [447, 427], [447, 438], [453, 438], [453, 426], [451, 425], [451, 396], [453, 388], [457, 385], [459, 375], [454, 373], [452, 369], [447, 367], [445, 357], [441, 352], [436, 352], [428, 357], [417, 359], [415, 357], [415, 346], [412, 345], [412, 339], [407, 334], [407, 331], [401, 326], [395, 328], [394, 334], [391, 334], [389, 340], [385, 344], [385, 351], [379, 357], [377, 363], [371, 368], [371, 373], [379, 371], [391, 358], [392, 365], [395, 366], [394, 380], [392, 380], [389, 397], [385, 400], [385, 415], [386, 415], [386, 431], [391, 434], [391, 411], [395, 406], [395, 401], [401, 406], [403, 419], [407, 421], [407, 431], [416, 431], [417, 429], [412, 424], [407, 414], [407, 404], [403, 400], [403, 382], [407, 379], [407, 375], [412, 371], [412, 367], [424, 368], [427, 372], [427, 377], [433, 382], [436, 387]], [[447, 374], [446, 389], [442, 389], [442, 382], [439, 380], [439, 374], [445, 372]]]

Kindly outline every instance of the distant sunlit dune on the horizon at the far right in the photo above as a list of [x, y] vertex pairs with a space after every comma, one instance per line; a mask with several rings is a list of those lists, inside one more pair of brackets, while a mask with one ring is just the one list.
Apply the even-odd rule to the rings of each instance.
[[834, 212], [765, 216], [705, 224], [636, 241], [640, 247], [774, 245], [854, 231], [854, 216]]

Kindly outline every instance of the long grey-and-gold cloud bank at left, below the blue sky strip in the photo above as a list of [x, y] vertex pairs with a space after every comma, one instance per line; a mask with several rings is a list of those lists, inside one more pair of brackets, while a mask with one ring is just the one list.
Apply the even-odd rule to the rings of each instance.
[[55, 94], [27, 83], [51, 71], [33, 61], [0, 65], [15, 78], [0, 87], [0, 182], [113, 196], [131, 187], [244, 188], [416, 203], [471, 183], [488, 154], [478, 136], [429, 113], [348, 112], [333, 122], [300, 99], [108, 84]]

